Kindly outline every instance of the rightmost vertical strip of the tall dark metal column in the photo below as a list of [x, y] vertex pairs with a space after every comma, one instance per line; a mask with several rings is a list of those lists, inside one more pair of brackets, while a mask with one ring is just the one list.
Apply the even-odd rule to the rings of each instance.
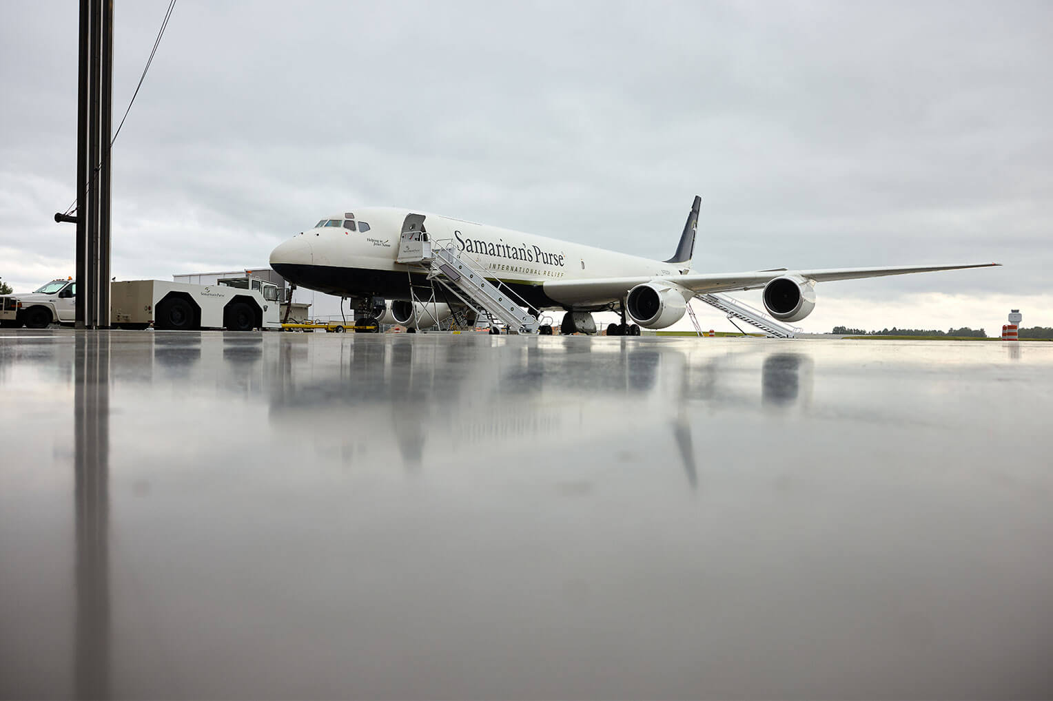
[[110, 156], [113, 141], [113, 89], [114, 89], [114, 0], [102, 0], [102, 73], [101, 107], [99, 133], [100, 144], [99, 172], [99, 267], [98, 267], [98, 325], [110, 328]]

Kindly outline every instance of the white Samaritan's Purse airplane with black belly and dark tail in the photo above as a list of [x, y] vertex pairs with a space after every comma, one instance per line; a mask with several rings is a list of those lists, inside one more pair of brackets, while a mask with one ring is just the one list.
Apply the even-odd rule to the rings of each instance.
[[[411, 295], [411, 284], [429, 284], [425, 272], [396, 258], [408, 236], [430, 237], [435, 245], [445, 241], [473, 259], [488, 278], [505, 283], [535, 313], [564, 311], [562, 333], [595, 333], [592, 313], [610, 311], [621, 315], [621, 323], [611, 324], [608, 335], [622, 336], [638, 335], [640, 326], [670, 326], [683, 317], [689, 300], [707, 293], [762, 287], [768, 313], [794, 322], [815, 307], [816, 282], [998, 265], [692, 273], [700, 205], [701, 198], [695, 197], [676, 253], [665, 261], [411, 209], [367, 207], [322, 219], [297, 234], [274, 249], [271, 267], [297, 285], [352, 298], [361, 316], [386, 316], [388, 321], [425, 328], [436, 320], [420, 305], [415, 309]], [[442, 308], [438, 316], [449, 314], [449, 306]], [[551, 334], [552, 327], [540, 331]]]

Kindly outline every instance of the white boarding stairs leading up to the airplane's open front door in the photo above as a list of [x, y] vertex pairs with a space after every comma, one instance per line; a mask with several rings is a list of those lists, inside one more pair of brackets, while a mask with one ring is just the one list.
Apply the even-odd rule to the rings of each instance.
[[[512, 333], [536, 334], [540, 322], [538, 316], [524, 311], [530, 309], [530, 304], [520, 298], [506, 284], [500, 280], [491, 281], [486, 279], [479, 263], [473, 262], [466, 256], [462, 256], [454, 245], [453, 240], [435, 241], [428, 240], [428, 235], [420, 237], [416, 232], [404, 232], [403, 242], [408, 238], [422, 238], [423, 241], [414, 241], [411, 245], [403, 245], [399, 253], [398, 261], [419, 265], [426, 272], [426, 279], [432, 283], [430, 298], [428, 294], [421, 294], [421, 301], [430, 299], [436, 301], [435, 283], [438, 283], [445, 291], [454, 295], [461, 304], [476, 313], [476, 318], [485, 314], [490, 319], [492, 327], [504, 324]], [[423, 245], [418, 245], [422, 243]], [[419, 268], [418, 268], [419, 269]], [[413, 278], [411, 268], [411, 280]], [[411, 283], [411, 296], [418, 299], [417, 287]], [[451, 309], [456, 305], [451, 304]], [[533, 309], [535, 313], [536, 309]], [[456, 324], [466, 323], [466, 315], [461, 311], [460, 319], [455, 319]]]

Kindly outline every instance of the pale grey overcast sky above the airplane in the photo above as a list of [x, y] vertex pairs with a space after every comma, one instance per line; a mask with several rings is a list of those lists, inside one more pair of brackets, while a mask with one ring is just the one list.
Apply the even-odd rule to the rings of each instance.
[[[167, 2], [115, 4], [116, 123]], [[74, 272], [77, 14], [0, 3], [18, 292]], [[359, 205], [668, 258], [699, 194], [699, 272], [1005, 264], [821, 284], [810, 331], [1053, 326], [1051, 37], [1050, 2], [179, 0], [114, 147], [113, 273], [265, 264]]]

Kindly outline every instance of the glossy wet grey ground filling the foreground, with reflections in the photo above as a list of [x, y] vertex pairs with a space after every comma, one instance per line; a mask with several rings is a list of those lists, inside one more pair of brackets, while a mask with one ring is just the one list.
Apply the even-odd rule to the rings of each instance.
[[5, 698], [1050, 698], [1053, 344], [0, 332]]

